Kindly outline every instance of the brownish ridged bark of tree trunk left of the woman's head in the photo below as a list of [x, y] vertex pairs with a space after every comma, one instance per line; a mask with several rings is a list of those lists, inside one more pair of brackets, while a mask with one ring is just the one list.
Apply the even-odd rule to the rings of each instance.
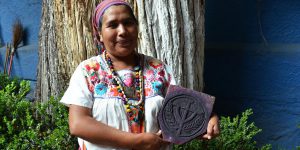
[[91, 16], [95, 0], [44, 0], [36, 99], [61, 94], [84, 59], [96, 54]]

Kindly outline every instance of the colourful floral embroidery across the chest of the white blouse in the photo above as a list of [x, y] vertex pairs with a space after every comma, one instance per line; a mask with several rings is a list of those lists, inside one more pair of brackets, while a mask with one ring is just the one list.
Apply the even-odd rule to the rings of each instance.
[[[171, 73], [158, 59], [145, 56], [143, 68], [145, 96], [161, 95], [164, 97], [166, 88], [171, 81]], [[117, 87], [112, 83], [105, 60], [101, 56], [93, 57], [84, 62], [83, 72], [88, 89], [91, 93], [102, 97], [118, 97]], [[125, 73], [120, 79], [127, 87], [132, 87], [134, 75]]]

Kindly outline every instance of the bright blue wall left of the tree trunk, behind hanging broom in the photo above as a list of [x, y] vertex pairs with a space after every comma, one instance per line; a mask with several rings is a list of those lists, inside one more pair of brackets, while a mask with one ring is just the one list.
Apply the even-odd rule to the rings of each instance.
[[0, 72], [4, 70], [4, 45], [11, 43], [13, 23], [20, 19], [25, 38], [14, 56], [11, 75], [31, 81], [32, 88], [36, 83], [41, 10], [41, 0], [0, 0]]

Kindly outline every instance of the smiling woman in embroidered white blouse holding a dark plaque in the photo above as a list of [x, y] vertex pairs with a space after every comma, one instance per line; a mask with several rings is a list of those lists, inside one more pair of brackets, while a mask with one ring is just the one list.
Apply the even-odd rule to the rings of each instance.
[[[106, 0], [95, 9], [94, 37], [101, 54], [75, 70], [61, 102], [69, 106], [69, 126], [80, 149], [167, 149], [157, 114], [170, 84], [170, 69], [138, 54], [138, 23], [128, 3]], [[212, 116], [207, 134], [217, 135]]]

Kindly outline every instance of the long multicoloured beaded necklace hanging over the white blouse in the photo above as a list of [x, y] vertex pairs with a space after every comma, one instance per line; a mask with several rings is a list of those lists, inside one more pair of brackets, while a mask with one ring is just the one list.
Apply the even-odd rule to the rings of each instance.
[[135, 78], [134, 78], [134, 84], [136, 90], [135, 93], [138, 102], [131, 103], [129, 102], [129, 99], [124, 92], [124, 88], [121, 84], [122, 81], [118, 77], [118, 73], [114, 69], [111, 58], [108, 56], [106, 51], [103, 52], [103, 55], [108, 65], [108, 68], [110, 70], [110, 74], [112, 75], [112, 83], [117, 87], [119, 96], [121, 97], [121, 100], [123, 101], [123, 104], [125, 106], [131, 131], [133, 133], [141, 133], [143, 130], [143, 120], [144, 120], [144, 86], [143, 86], [144, 78], [143, 78], [143, 69], [140, 63], [143, 62], [143, 60], [142, 61], [139, 60], [139, 64], [133, 68], [135, 74]]

